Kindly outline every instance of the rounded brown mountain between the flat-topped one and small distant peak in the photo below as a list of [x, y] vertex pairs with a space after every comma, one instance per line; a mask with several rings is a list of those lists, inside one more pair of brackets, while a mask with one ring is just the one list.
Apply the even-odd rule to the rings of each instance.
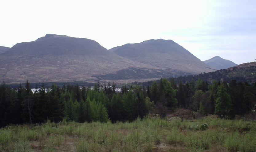
[[122, 56], [140, 63], [150, 64], [183, 75], [214, 71], [185, 48], [172, 40], [147, 40], [136, 44], [125, 44], [110, 49]]

